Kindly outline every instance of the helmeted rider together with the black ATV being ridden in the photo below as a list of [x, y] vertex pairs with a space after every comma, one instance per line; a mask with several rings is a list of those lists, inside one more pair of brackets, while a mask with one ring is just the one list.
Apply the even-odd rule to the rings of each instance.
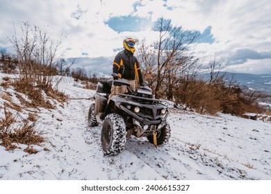
[[[88, 125], [101, 127], [101, 147], [105, 155], [117, 155], [124, 149], [126, 137], [147, 137], [155, 146], [170, 139], [167, 124], [169, 110], [163, 100], [152, 97], [151, 88], [143, 82], [134, 45], [138, 40], [124, 39], [124, 51], [113, 64], [114, 80], [100, 80], [90, 105]], [[138, 78], [140, 88], [136, 88]], [[110, 91], [111, 90], [111, 91]]]

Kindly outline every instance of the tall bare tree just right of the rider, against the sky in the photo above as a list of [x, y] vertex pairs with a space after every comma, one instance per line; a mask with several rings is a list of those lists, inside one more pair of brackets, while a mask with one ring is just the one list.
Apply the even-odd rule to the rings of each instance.
[[[172, 89], [167, 85], [174, 85], [184, 66], [195, 64], [188, 51], [199, 34], [172, 26], [170, 20], [163, 18], [156, 21], [154, 30], [158, 32], [158, 40], [151, 46], [140, 46], [140, 60], [142, 69], [152, 77], [156, 98], [160, 98], [166, 89]], [[150, 71], [154, 73], [149, 74]]]

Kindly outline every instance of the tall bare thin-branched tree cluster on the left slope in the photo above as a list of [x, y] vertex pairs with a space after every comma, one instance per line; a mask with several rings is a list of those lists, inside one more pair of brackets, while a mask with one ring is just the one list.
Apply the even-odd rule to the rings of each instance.
[[20, 78], [47, 89], [51, 86], [52, 76], [57, 74], [56, 63], [59, 58], [56, 53], [61, 39], [53, 42], [46, 30], [31, 26], [28, 22], [24, 22], [19, 33], [15, 27], [14, 31], [10, 42], [17, 55]]

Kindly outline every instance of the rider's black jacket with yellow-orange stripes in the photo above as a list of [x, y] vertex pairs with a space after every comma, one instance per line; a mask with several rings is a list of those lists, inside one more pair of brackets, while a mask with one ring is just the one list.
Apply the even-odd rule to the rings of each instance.
[[138, 59], [130, 51], [117, 53], [113, 63], [113, 73], [118, 73], [120, 78], [135, 80], [138, 78], [140, 85], [143, 83], [142, 73]]

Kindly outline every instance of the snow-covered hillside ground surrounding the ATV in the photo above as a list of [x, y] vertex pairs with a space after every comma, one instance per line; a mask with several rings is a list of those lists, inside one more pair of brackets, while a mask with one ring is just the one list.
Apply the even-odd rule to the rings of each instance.
[[59, 90], [69, 96], [67, 103], [38, 110], [36, 130], [45, 142], [33, 145], [36, 154], [24, 152], [26, 145], [13, 151], [0, 145], [0, 180], [271, 180], [270, 123], [171, 107], [172, 136], [167, 145], [154, 148], [147, 139], [132, 136], [120, 155], [105, 157], [101, 126], [87, 124], [95, 91], [83, 89], [72, 78], [63, 79]]

